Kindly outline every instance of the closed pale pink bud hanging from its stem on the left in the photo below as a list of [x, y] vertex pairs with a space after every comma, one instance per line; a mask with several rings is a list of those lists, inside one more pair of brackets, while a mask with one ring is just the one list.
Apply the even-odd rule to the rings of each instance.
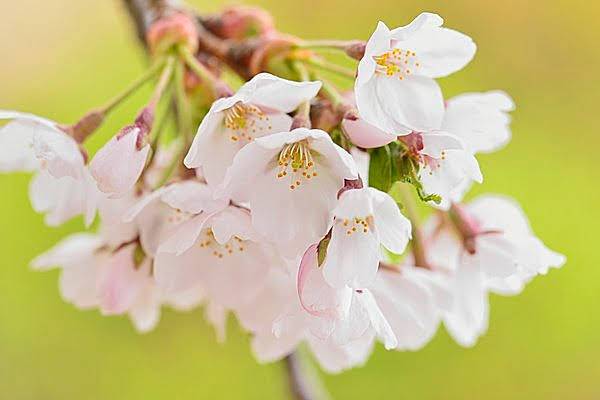
[[137, 182], [146, 164], [150, 145], [137, 149], [138, 128], [116, 135], [104, 145], [90, 163], [98, 188], [112, 197], [125, 195]]

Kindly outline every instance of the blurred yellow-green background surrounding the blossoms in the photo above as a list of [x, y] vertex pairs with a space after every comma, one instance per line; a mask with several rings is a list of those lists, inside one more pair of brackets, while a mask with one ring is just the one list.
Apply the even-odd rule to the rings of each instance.
[[[190, 1], [201, 10], [224, 2]], [[403, 25], [440, 13], [478, 43], [475, 60], [442, 81], [448, 96], [501, 88], [515, 99], [514, 139], [480, 157], [475, 188], [518, 199], [537, 232], [568, 256], [517, 297], [491, 298], [489, 332], [462, 349], [442, 330], [416, 353], [378, 346], [367, 365], [325, 376], [334, 398], [600, 398], [600, 3], [480, 0], [256, 1], [279, 28], [308, 38], [367, 38], [378, 19]], [[117, 0], [0, 0], [0, 108], [71, 122], [131, 81], [145, 58]], [[141, 98], [92, 146], [128, 122]], [[140, 101], [138, 101], [140, 100]], [[258, 365], [229, 323], [217, 344], [202, 312], [166, 311], [135, 333], [126, 318], [65, 304], [56, 271], [28, 262], [81, 221], [47, 228], [29, 206], [28, 177], [0, 176], [0, 398], [285, 398], [283, 369]]]

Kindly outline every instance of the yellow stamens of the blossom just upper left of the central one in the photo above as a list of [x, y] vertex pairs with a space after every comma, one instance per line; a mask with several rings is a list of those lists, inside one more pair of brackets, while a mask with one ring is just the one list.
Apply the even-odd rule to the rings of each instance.
[[232, 142], [252, 141], [272, 129], [269, 117], [252, 104], [237, 102], [225, 111], [225, 127], [231, 131]]

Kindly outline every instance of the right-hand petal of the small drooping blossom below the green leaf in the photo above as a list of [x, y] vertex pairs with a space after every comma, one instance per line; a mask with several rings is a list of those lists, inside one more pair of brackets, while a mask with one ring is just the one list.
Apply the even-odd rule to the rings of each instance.
[[373, 199], [373, 215], [379, 241], [392, 253], [402, 254], [412, 238], [410, 221], [402, 215], [390, 195], [375, 188], [368, 190]]

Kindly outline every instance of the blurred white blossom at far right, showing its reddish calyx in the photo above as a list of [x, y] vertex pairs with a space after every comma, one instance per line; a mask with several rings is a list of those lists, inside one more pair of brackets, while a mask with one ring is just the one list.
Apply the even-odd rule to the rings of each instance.
[[463, 346], [473, 346], [488, 325], [489, 291], [513, 295], [538, 274], [560, 267], [565, 257], [533, 234], [511, 199], [482, 196], [453, 211], [461, 235], [438, 218], [428, 223], [428, 256], [453, 292], [444, 324]]

